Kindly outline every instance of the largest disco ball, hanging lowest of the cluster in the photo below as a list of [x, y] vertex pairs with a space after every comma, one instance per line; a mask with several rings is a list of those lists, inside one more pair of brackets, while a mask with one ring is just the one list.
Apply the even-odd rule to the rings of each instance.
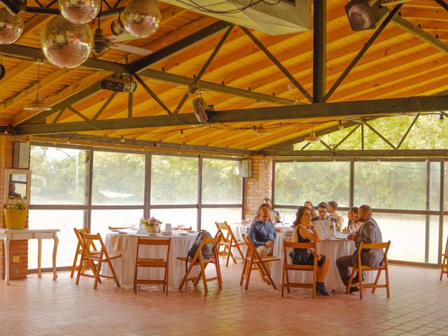
[[59, 68], [83, 64], [92, 50], [92, 31], [87, 24], [76, 25], [57, 15], [42, 31], [42, 50], [48, 61]]

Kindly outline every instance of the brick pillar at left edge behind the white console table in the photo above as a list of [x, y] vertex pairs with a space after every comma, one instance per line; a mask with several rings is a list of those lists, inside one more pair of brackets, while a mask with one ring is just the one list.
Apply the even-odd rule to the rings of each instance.
[[[17, 141], [14, 137], [9, 135], [0, 135], [0, 228], [6, 228], [6, 223], [3, 218], [3, 208], [5, 207], [4, 200], [4, 184], [5, 184], [5, 169], [13, 167], [13, 144]], [[28, 221], [26, 223], [28, 227]], [[28, 241], [16, 240], [10, 241], [9, 244], [9, 265], [10, 265], [10, 279], [24, 279], [27, 277], [28, 269]], [[0, 241], [0, 276], [5, 279], [5, 250], [3, 240]], [[19, 257], [18, 262], [13, 262], [13, 257]]]

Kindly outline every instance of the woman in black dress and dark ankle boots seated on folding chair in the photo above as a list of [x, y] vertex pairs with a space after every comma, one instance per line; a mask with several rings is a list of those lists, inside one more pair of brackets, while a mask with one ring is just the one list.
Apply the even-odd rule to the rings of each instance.
[[[307, 207], [300, 207], [295, 214], [293, 241], [299, 243], [309, 243], [311, 241], [321, 241], [321, 236], [316, 228], [311, 225], [311, 210]], [[293, 248], [290, 257], [294, 265], [313, 265], [314, 251], [309, 248]], [[325, 255], [317, 253], [317, 286], [318, 294], [330, 295], [325, 290], [325, 276], [328, 273], [330, 262]]]

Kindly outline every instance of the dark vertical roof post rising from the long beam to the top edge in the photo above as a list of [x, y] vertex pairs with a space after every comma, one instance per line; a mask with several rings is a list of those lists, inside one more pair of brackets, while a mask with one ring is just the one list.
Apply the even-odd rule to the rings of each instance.
[[327, 0], [314, 1], [313, 15], [313, 103], [323, 103], [327, 70]]

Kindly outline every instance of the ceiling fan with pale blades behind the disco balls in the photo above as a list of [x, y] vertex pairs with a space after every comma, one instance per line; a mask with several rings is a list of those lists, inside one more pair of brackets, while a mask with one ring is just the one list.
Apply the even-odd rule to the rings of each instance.
[[93, 35], [93, 52], [95, 55], [101, 55], [103, 52], [109, 49], [121, 50], [124, 52], [130, 52], [132, 54], [137, 54], [141, 56], [147, 56], [153, 53], [153, 50], [148, 50], [145, 48], [139, 48], [134, 45], [121, 44], [117, 42], [122, 41], [130, 41], [135, 39], [136, 37], [131, 35], [130, 33], [124, 32], [119, 34], [118, 36], [104, 36], [103, 29], [101, 29], [100, 21], [98, 20], [98, 27], [94, 31]]

